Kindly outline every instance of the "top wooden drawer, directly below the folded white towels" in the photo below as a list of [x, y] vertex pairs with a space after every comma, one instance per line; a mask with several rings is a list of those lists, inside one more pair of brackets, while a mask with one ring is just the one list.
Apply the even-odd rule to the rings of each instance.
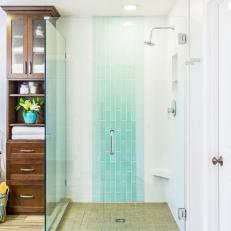
[[38, 158], [44, 155], [44, 142], [9, 142], [7, 158]]

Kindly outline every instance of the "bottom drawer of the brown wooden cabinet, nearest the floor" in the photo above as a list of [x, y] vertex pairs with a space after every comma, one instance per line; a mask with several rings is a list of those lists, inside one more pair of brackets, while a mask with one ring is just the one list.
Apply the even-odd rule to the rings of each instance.
[[44, 208], [44, 186], [42, 185], [10, 185], [9, 206]]

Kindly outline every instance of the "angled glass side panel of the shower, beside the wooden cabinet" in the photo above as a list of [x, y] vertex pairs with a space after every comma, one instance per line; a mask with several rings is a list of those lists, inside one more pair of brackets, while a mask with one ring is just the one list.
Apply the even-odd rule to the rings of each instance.
[[46, 21], [46, 230], [66, 198], [65, 40]]

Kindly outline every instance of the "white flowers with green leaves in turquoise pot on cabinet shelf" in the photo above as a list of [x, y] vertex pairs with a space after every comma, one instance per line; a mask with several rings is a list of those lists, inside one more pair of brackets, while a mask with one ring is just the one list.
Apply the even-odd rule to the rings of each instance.
[[19, 104], [15, 107], [16, 111], [23, 108], [22, 116], [26, 124], [35, 124], [37, 121], [37, 113], [41, 109], [43, 100], [41, 98], [23, 99], [20, 98]]

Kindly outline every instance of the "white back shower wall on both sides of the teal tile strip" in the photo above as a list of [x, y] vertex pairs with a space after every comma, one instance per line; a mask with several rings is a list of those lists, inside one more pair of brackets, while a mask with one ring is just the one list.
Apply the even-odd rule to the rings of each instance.
[[[147, 39], [153, 26], [166, 25], [167, 17], [144, 17], [142, 40]], [[92, 146], [93, 146], [93, 24], [92, 18], [62, 18], [58, 29], [66, 39], [67, 52], [67, 191], [73, 201], [93, 201]], [[141, 36], [141, 35], [140, 35]], [[163, 81], [166, 80], [166, 33], [156, 33], [158, 46], [144, 47], [143, 116], [144, 116], [144, 201], [165, 202], [166, 180], [152, 176], [154, 168], [166, 166], [167, 153], [163, 127], [167, 120], [167, 97]], [[113, 38], [112, 42], [116, 42]], [[142, 43], [143, 45], [143, 43]], [[161, 109], [161, 114], [158, 111]], [[164, 117], [164, 118], [162, 118]], [[158, 127], [159, 126], [159, 127]], [[165, 125], [163, 125], [165, 126]], [[156, 131], [156, 129], [158, 129]], [[155, 132], [156, 131], [156, 132]]]

